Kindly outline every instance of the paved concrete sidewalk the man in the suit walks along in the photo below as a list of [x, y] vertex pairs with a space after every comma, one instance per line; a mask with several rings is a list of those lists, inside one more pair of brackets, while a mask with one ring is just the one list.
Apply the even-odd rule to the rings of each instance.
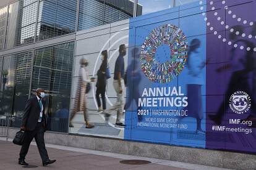
[[[20, 146], [3, 140], [4, 139], [0, 139], [0, 169], [24, 169], [18, 164]], [[46, 144], [46, 147], [48, 149], [49, 158], [56, 159], [57, 162], [49, 165], [48, 167], [43, 167], [35, 143], [32, 142], [26, 161], [30, 165], [38, 166], [37, 168], [33, 169], [223, 169], [188, 163], [179, 163], [174, 161], [158, 160], [153, 158], [143, 158], [138, 156], [86, 150], [81, 148], [63, 147], [59, 145]], [[151, 163], [144, 165], [128, 165], [119, 163], [121, 160], [138, 159], [151, 161]]]

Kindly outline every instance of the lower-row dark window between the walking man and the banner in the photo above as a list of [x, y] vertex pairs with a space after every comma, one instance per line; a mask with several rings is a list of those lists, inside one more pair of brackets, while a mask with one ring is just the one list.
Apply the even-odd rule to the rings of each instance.
[[32, 94], [45, 89], [46, 113], [50, 131], [67, 132], [74, 42], [35, 51]]

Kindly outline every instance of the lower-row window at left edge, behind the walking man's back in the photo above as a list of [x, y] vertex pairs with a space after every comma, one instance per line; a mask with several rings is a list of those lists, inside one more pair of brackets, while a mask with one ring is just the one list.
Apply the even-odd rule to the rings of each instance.
[[32, 51], [9, 55], [2, 59], [0, 113], [12, 115], [11, 126], [20, 127], [29, 95]]

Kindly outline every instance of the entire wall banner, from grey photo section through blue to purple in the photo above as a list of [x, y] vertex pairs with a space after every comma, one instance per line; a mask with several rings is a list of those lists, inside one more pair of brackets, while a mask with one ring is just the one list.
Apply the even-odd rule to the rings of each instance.
[[256, 153], [256, 1], [77, 32], [70, 132]]

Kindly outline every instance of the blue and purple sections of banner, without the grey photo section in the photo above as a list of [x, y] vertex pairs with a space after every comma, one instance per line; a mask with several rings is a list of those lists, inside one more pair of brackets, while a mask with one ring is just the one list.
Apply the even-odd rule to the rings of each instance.
[[255, 7], [198, 1], [130, 20], [125, 139], [256, 153]]

